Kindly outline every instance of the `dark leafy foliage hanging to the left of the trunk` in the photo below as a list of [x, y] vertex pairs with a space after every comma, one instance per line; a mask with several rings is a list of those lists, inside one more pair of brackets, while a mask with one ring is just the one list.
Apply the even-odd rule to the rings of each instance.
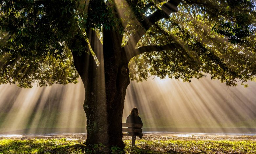
[[[0, 3], [0, 84], [32, 87], [32, 83], [76, 83], [72, 54], [64, 43], [76, 29], [61, 24], [76, 19], [68, 16], [74, 1], [53, 1], [47, 7], [35, 5], [35, 1]], [[60, 18], [63, 20], [57, 20]]]

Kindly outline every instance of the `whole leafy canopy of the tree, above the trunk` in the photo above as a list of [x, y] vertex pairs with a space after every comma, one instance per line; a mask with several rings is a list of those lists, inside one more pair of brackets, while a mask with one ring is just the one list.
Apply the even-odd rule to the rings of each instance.
[[[87, 29], [101, 42], [102, 29], [123, 35], [123, 47], [138, 41], [138, 56], [129, 65], [132, 80], [157, 75], [190, 81], [209, 73], [231, 86], [255, 77], [254, 0], [183, 0], [178, 12], [164, 17], [166, 2], [2, 0], [1, 84], [76, 83], [70, 51], [81, 54], [89, 47], [68, 44], [76, 34], [86, 37]], [[156, 22], [147, 21], [154, 16]]]

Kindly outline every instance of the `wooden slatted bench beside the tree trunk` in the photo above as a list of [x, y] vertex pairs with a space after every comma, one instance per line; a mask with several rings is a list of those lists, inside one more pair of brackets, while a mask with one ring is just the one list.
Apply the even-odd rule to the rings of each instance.
[[[128, 127], [128, 128], [123, 128]], [[136, 136], [142, 137], [142, 124], [122, 123], [123, 136], [132, 136], [132, 146], [135, 146]], [[128, 134], [129, 132], [129, 134]], [[140, 133], [140, 134], [135, 134]]]

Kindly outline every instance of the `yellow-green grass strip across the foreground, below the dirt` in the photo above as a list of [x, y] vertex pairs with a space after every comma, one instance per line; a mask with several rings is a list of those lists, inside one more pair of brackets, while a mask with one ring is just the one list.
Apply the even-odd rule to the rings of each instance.
[[[81, 143], [80, 143], [81, 142]], [[84, 141], [66, 139], [33, 139], [33, 140], [0, 140], [0, 153], [100, 153], [104, 151], [104, 145], [94, 144], [86, 148]], [[125, 153], [233, 153], [233, 154], [255, 154], [256, 141], [182, 141], [182, 140], [138, 140], [136, 148], [131, 147], [131, 140], [124, 140]], [[123, 153], [118, 147], [112, 147], [107, 153]]]

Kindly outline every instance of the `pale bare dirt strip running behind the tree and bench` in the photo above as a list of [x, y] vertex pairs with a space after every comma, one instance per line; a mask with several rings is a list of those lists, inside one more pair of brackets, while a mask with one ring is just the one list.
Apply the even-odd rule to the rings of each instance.
[[[0, 134], [0, 139], [61, 139], [67, 140], [80, 140], [86, 139], [86, 133], [66, 133], [66, 134], [48, 134], [48, 135], [4, 135]], [[131, 136], [123, 136], [124, 140], [131, 140]], [[203, 133], [144, 133], [142, 139], [144, 140], [229, 140], [229, 141], [242, 141], [250, 140], [256, 141], [256, 136], [248, 135], [227, 135], [227, 134], [203, 134]], [[139, 140], [139, 138], [137, 138]]]

